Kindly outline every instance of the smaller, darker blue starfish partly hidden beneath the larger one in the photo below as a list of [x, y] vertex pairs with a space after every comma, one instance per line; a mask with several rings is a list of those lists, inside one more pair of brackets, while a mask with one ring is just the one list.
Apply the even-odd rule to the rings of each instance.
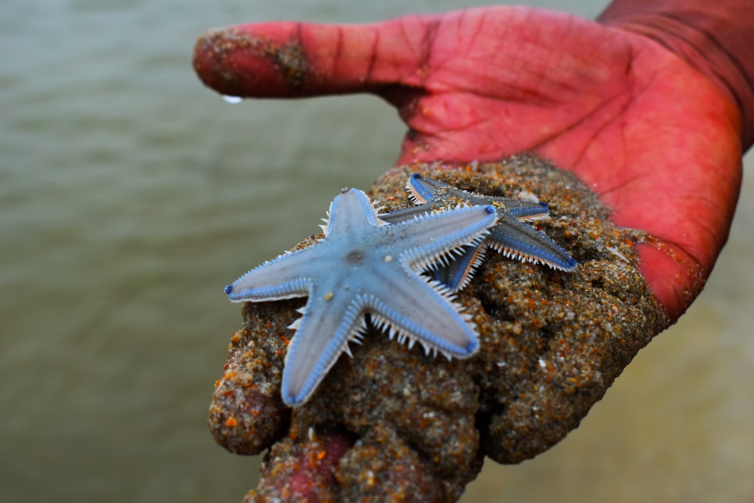
[[487, 247], [512, 259], [544, 263], [562, 271], [573, 271], [578, 265], [566, 250], [544, 232], [526, 225], [525, 222], [549, 216], [546, 203], [467, 192], [435, 179], [423, 178], [419, 173], [412, 174], [406, 183], [406, 189], [418, 206], [388, 213], [381, 217], [383, 220], [390, 223], [402, 222], [417, 214], [459, 202], [471, 205], [492, 204], [497, 210], [498, 223], [490, 229], [486, 242], [465, 247], [460, 258], [433, 271], [433, 278], [445, 284], [452, 292], [461, 290], [468, 284], [474, 270], [481, 264]]

